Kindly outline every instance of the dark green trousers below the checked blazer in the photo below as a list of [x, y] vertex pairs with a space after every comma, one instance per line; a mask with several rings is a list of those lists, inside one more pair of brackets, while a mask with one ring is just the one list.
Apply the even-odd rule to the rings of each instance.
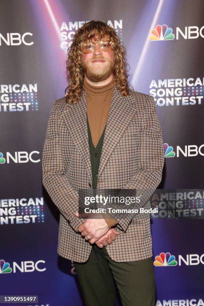
[[86, 262], [73, 263], [86, 306], [115, 306], [114, 280], [123, 306], [155, 305], [152, 257], [116, 262], [94, 244]]

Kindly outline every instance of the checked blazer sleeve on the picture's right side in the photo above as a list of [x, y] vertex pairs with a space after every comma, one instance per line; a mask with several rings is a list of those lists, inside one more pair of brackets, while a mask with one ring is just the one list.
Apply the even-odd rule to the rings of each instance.
[[[123, 188], [136, 189], [136, 193], [138, 190], [141, 201], [136, 208], [144, 206], [159, 185], [164, 164], [162, 131], [156, 113], [156, 105], [152, 96], [146, 95], [146, 97], [141, 120], [139, 171], [131, 177]], [[128, 195], [128, 190], [125, 190], [125, 192], [121, 190], [118, 193], [118, 196], [125, 195]], [[115, 217], [114, 215], [113, 217], [118, 222], [117, 227], [125, 232], [134, 216], [135, 213], [128, 216], [122, 215], [122, 217], [120, 215]]]

